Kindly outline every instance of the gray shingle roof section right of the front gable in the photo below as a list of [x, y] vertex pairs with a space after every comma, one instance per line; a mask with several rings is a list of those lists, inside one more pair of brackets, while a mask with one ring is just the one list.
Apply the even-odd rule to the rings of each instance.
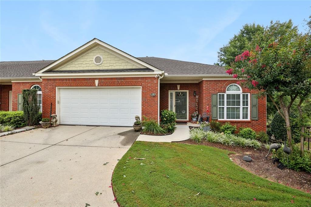
[[166, 58], [138, 58], [169, 75], [227, 75], [224, 67]]

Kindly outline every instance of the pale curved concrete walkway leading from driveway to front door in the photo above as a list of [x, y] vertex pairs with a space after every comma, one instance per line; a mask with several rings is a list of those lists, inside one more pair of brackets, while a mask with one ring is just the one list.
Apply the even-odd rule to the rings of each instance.
[[146, 142], [179, 142], [189, 139], [189, 126], [197, 126], [197, 124], [187, 123], [187, 125], [176, 125], [173, 134], [164, 136], [139, 135], [136, 141]]

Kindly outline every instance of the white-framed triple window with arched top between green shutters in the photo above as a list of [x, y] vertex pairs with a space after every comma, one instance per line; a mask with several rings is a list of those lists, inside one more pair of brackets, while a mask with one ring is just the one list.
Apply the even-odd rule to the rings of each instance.
[[239, 85], [231, 84], [226, 93], [218, 94], [218, 119], [249, 120], [249, 94]]

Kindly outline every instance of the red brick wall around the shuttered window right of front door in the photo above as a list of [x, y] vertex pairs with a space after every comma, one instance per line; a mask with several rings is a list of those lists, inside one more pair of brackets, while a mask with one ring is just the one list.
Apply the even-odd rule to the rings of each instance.
[[[209, 107], [211, 121], [211, 95], [217, 93], [225, 93], [228, 85], [232, 83], [237, 83], [238, 80], [203, 80], [199, 83], [199, 113], [202, 114], [206, 111], [206, 106]], [[258, 91], [249, 90], [246, 88], [242, 88], [243, 93], [257, 94]], [[250, 102], [252, 100], [250, 99]], [[249, 103], [251, 106], [252, 103]], [[251, 113], [251, 110], [250, 110]], [[250, 114], [250, 117], [252, 115]], [[258, 120], [249, 121], [226, 121], [226, 120], [215, 120], [218, 122], [230, 122], [232, 125], [235, 125], [239, 130], [240, 127], [250, 127], [255, 131], [266, 131], [267, 126], [267, 112], [266, 112], [266, 97], [262, 97], [258, 99]]]

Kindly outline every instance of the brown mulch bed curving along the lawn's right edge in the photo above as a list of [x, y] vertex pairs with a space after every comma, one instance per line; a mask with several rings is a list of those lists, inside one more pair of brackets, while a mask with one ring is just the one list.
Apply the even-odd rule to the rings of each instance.
[[[295, 170], [284, 168], [280, 170], [277, 168], [277, 164], [272, 163], [271, 156], [266, 160], [265, 156], [268, 154], [268, 150], [265, 148], [255, 150], [253, 148], [243, 148], [239, 146], [225, 146], [220, 143], [211, 143], [203, 141], [202, 143], [196, 143], [192, 140], [185, 140], [179, 143], [186, 143], [191, 145], [207, 145], [211, 147], [217, 147], [223, 150], [229, 150], [235, 154], [230, 154], [229, 157], [232, 161], [238, 164], [240, 167], [247, 171], [266, 178], [273, 182], [290, 186], [295, 189], [299, 189], [311, 194], [311, 174], [307, 172], [297, 172]], [[253, 159], [252, 162], [245, 162], [242, 160], [244, 155], [249, 155]], [[272, 153], [270, 153], [272, 155]]]

